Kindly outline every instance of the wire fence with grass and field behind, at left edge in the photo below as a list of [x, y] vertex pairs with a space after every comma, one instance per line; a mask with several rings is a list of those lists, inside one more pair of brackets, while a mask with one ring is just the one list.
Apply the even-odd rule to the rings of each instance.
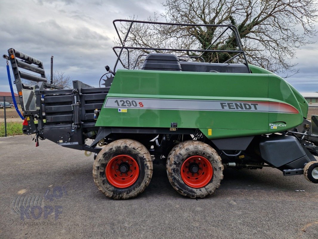
[[[21, 112], [21, 106], [18, 104]], [[20, 116], [14, 108], [11, 97], [0, 97], [0, 137], [22, 134], [22, 123]]]

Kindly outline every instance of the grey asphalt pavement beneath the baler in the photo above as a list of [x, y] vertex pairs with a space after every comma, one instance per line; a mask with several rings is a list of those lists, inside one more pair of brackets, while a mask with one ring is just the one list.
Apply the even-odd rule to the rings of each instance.
[[179, 195], [163, 165], [146, 190], [113, 200], [93, 156], [30, 136], [0, 138], [0, 238], [318, 238], [318, 185], [272, 168], [232, 170], [204, 199]]

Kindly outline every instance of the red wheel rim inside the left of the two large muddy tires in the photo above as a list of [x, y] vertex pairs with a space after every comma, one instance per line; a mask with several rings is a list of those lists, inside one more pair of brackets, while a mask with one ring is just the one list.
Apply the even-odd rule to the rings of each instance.
[[128, 155], [118, 155], [109, 160], [105, 174], [114, 187], [127, 188], [133, 185], [139, 176], [138, 163]]

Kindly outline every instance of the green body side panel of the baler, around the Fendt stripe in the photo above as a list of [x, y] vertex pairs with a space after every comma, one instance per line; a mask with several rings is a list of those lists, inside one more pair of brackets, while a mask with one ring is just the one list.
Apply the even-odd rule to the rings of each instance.
[[[175, 122], [178, 128], [199, 128], [214, 139], [280, 132], [300, 125], [303, 110], [299, 97], [295, 97], [298, 92], [279, 76], [265, 73], [264, 69], [262, 72], [262, 68], [251, 67], [251, 70], [257, 70], [258, 74], [118, 70], [104, 105], [108, 98], [170, 101], [165, 109], [136, 107], [127, 108], [127, 112], [119, 112], [125, 107], [105, 108], [103, 105], [96, 126], [169, 128]], [[174, 108], [173, 100], [287, 103], [299, 113], [167, 109]], [[287, 126], [271, 129], [269, 123], [276, 121], [286, 122]]]

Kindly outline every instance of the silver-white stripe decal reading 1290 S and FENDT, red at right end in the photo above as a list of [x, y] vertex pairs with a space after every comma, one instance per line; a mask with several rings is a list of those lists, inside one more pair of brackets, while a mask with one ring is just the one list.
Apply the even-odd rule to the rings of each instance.
[[299, 113], [292, 105], [270, 101], [221, 101], [153, 98], [113, 98], [106, 100], [104, 108], [132, 108], [153, 110], [199, 110]]

